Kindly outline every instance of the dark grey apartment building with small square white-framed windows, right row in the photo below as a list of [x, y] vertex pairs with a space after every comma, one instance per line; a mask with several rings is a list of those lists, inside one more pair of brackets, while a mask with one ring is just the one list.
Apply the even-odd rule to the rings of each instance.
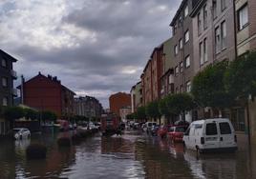
[[194, 76], [193, 24], [189, 16], [198, 1], [183, 0], [170, 26], [173, 31], [175, 92], [190, 91]]

